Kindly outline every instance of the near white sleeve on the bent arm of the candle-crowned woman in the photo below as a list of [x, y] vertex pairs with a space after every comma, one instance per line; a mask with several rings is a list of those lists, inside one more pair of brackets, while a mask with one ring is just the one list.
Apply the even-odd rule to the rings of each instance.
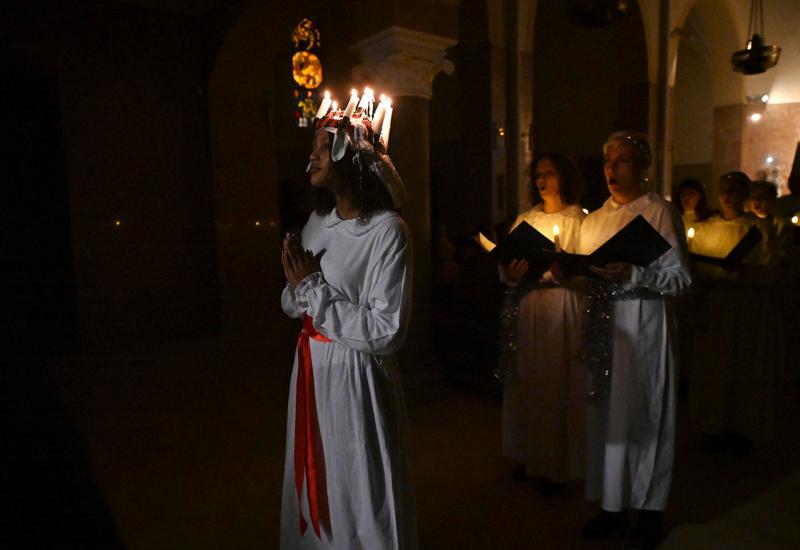
[[321, 272], [303, 279], [295, 295], [305, 300], [324, 336], [356, 351], [386, 355], [403, 343], [411, 300], [411, 250], [402, 227], [388, 230], [370, 254], [366, 303], [351, 302]]

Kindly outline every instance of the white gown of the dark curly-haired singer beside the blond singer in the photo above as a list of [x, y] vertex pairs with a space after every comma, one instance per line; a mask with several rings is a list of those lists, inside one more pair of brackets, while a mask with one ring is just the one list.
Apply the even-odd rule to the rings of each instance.
[[[585, 214], [577, 205], [548, 214], [539, 204], [523, 220], [574, 252]], [[580, 479], [585, 471], [586, 370], [578, 365], [577, 294], [550, 282], [520, 285], [515, 368], [503, 387], [503, 454], [522, 462], [529, 476]]]

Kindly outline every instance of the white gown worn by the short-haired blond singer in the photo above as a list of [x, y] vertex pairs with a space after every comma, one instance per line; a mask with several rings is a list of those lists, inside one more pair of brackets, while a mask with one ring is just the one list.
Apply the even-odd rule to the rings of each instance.
[[664, 296], [691, 283], [680, 214], [652, 192], [625, 205], [609, 198], [583, 220], [578, 252], [592, 253], [639, 214], [672, 248], [633, 267], [624, 287], [641, 297], [613, 302], [610, 389], [587, 409], [586, 496], [610, 512], [664, 510], [675, 452], [677, 330]]

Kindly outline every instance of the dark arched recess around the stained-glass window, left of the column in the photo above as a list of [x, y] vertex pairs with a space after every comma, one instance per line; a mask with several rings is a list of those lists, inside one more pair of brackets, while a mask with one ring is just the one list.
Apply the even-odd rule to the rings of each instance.
[[[352, 18], [341, 5], [253, 0], [231, 24], [211, 73], [208, 102], [223, 328], [262, 330], [282, 314], [282, 232], [298, 229], [312, 130], [294, 117], [291, 40], [312, 18], [322, 33], [322, 89], [346, 97]], [[346, 11], [346, 10], [345, 10]]]

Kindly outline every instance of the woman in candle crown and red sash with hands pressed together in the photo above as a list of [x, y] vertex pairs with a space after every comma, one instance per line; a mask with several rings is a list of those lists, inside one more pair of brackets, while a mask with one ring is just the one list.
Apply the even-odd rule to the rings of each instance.
[[315, 210], [302, 235], [283, 242], [281, 304], [303, 320], [289, 394], [284, 550], [417, 547], [394, 357], [410, 313], [411, 240], [397, 213], [402, 181], [371, 140], [363, 116], [320, 119], [308, 170]]

